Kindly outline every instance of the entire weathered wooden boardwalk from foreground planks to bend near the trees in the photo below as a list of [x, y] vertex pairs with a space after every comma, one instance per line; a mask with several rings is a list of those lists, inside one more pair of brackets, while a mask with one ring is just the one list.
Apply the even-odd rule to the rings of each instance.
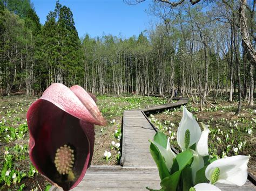
[[[149, 151], [149, 139], [156, 131], [145, 114], [180, 107], [188, 102], [181, 98], [176, 103], [158, 105], [145, 109], [126, 110], [123, 116], [122, 166], [91, 166], [84, 179], [72, 190], [146, 190], [160, 189], [160, 178], [156, 164]], [[221, 190], [256, 190], [247, 180], [242, 187], [218, 184]], [[52, 187], [50, 190], [62, 190]]]

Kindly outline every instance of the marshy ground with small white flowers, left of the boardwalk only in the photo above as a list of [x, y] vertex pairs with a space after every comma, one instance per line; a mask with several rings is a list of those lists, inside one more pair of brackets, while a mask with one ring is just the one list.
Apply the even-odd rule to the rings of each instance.
[[[117, 165], [124, 110], [164, 104], [164, 98], [146, 96], [98, 96], [97, 105], [107, 120], [95, 126], [96, 140], [92, 165]], [[2, 97], [0, 101], [0, 190], [48, 190], [51, 185], [31, 165], [28, 155], [29, 132], [26, 111], [36, 97]], [[111, 157], [104, 157], [104, 152]]]

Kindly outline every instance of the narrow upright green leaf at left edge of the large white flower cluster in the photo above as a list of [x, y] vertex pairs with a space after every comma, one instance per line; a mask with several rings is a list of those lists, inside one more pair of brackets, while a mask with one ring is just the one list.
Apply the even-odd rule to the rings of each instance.
[[154, 162], [156, 162], [157, 164], [160, 179], [163, 180], [167, 176], [170, 176], [169, 170], [165, 164], [163, 156], [161, 155], [158, 147], [152, 142], [150, 144], [150, 153], [152, 155], [152, 158], [154, 159]]

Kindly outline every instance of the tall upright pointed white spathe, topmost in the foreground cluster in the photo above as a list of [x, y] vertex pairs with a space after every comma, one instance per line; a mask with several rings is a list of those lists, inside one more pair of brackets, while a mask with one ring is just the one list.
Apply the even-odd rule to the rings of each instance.
[[197, 123], [196, 119], [193, 117], [191, 112], [187, 110], [187, 108], [183, 107], [183, 116], [181, 118], [178, 132], [177, 132], [177, 142], [182, 151], [185, 151], [185, 132], [186, 130], [190, 131], [190, 144], [188, 147], [192, 146], [194, 143], [197, 143], [200, 136], [201, 130], [200, 126]]

